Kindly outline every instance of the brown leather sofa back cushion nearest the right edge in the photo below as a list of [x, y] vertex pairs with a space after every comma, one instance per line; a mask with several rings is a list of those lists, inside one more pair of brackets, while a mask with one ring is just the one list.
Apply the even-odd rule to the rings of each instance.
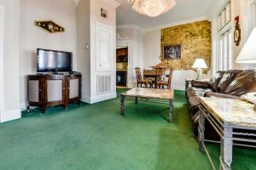
[[230, 83], [230, 86], [226, 88], [224, 94], [231, 94], [241, 96], [256, 92], [256, 79], [253, 70], [242, 71], [236, 79]]

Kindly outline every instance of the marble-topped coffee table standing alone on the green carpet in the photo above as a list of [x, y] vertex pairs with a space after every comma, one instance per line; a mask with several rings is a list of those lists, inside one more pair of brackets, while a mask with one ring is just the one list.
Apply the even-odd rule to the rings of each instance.
[[132, 88], [121, 94], [121, 115], [125, 116], [125, 100], [169, 105], [169, 122], [172, 122], [174, 92], [171, 89]]

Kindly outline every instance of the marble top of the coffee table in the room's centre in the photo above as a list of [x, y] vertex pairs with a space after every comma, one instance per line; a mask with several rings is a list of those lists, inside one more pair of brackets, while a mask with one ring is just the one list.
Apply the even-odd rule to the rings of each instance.
[[123, 93], [124, 96], [153, 98], [153, 99], [173, 99], [174, 92], [171, 89], [160, 88], [132, 88]]

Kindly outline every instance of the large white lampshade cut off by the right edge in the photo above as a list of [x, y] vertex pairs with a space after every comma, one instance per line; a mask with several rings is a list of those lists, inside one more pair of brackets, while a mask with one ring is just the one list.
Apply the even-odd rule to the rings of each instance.
[[256, 63], [256, 27], [236, 58], [236, 63]]

